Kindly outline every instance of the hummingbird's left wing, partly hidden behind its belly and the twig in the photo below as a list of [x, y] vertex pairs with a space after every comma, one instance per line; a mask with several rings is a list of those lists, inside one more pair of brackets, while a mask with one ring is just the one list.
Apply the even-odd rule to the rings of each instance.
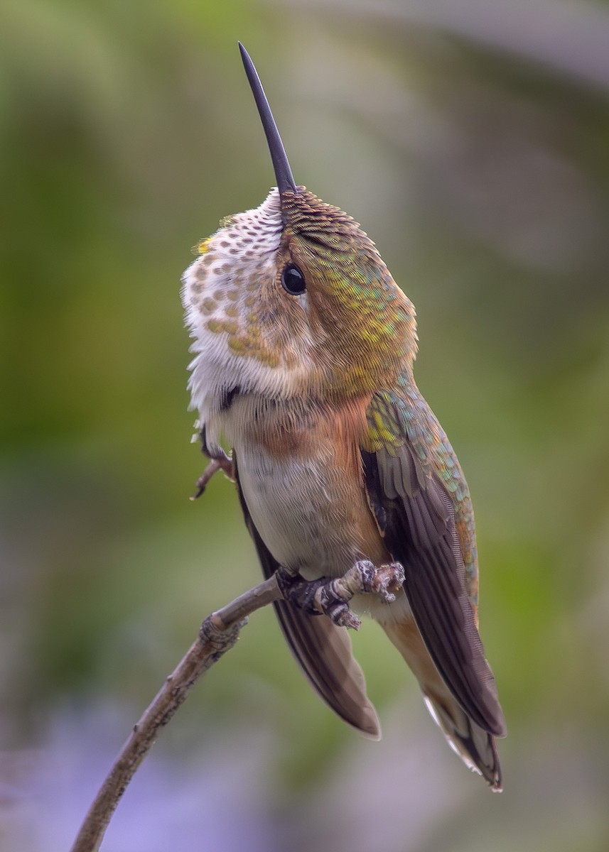
[[[264, 544], [250, 515], [234, 455], [235, 479], [246, 527], [252, 535], [264, 577], [269, 578], [280, 564]], [[366, 694], [363, 671], [351, 653], [351, 639], [345, 627], [337, 627], [325, 615], [309, 615], [286, 601], [273, 606], [283, 635], [294, 657], [324, 701], [345, 722], [371, 739], [380, 739], [380, 722]]]

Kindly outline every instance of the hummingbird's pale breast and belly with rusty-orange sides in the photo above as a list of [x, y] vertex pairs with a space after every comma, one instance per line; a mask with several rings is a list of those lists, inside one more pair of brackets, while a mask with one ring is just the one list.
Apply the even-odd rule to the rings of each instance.
[[363, 412], [364, 403], [312, 409], [241, 397], [226, 418], [258, 533], [281, 565], [307, 579], [385, 555], [363, 486]]

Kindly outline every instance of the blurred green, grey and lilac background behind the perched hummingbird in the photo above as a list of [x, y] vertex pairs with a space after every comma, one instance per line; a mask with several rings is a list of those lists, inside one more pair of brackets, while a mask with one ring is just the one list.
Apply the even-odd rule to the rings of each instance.
[[580, 0], [4, 0], [0, 848], [67, 849], [213, 608], [258, 582], [233, 486], [188, 503], [190, 246], [273, 182], [363, 223], [467, 472], [505, 792], [373, 624], [361, 740], [257, 613], [107, 852], [609, 848], [609, 9]]

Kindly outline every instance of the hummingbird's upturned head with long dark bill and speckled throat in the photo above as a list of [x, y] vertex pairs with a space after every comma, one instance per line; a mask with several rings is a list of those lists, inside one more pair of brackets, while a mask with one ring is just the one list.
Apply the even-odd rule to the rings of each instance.
[[411, 368], [415, 309], [357, 222], [296, 186], [241, 54], [277, 188], [255, 210], [223, 220], [184, 273], [193, 404], [217, 410], [234, 389], [271, 399], [367, 394]]

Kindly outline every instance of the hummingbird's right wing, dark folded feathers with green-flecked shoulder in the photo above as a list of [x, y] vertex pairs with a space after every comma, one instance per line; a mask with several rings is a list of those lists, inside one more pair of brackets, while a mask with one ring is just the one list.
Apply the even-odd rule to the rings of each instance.
[[362, 457], [368, 498], [387, 550], [403, 564], [416, 625], [463, 710], [485, 731], [503, 736], [495, 679], [468, 596], [455, 502], [433, 455], [438, 439], [450, 445], [418, 394], [414, 400], [375, 394], [367, 413], [369, 442]]

